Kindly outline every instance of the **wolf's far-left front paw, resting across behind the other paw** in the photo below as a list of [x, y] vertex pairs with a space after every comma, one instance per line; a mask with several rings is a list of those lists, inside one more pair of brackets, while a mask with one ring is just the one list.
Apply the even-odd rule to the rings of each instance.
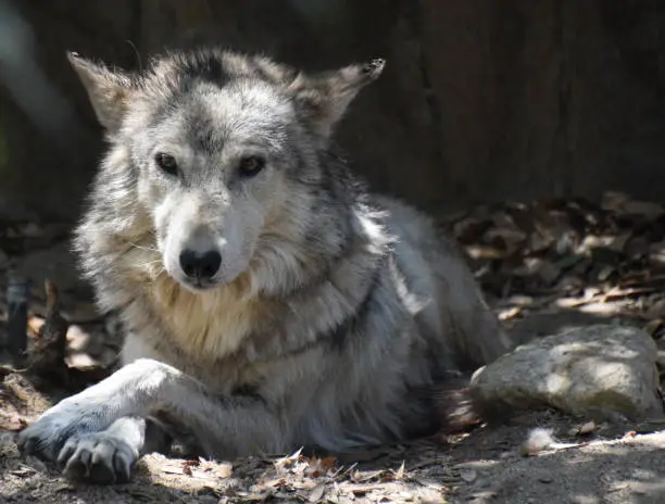
[[18, 449], [26, 455], [54, 462], [71, 437], [99, 430], [97, 424], [95, 415], [64, 400], [18, 434]]

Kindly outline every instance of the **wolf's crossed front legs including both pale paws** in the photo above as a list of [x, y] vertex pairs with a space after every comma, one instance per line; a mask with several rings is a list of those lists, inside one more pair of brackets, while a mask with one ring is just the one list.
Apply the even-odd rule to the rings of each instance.
[[[216, 395], [176, 368], [143, 358], [58, 403], [21, 432], [18, 444], [58, 459], [70, 477], [124, 479], [143, 445], [140, 419], [151, 413], [197, 432], [211, 455], [276, 449], [284, 439], [277, 415], [261, 399]], [[98, 472], [104, 478], [96, 478]]]

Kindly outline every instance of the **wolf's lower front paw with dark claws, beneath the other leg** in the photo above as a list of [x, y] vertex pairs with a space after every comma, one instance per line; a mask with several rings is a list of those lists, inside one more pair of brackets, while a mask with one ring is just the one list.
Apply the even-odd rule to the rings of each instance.
[[122, 483], [131, 479], [138, 450], [117, 434], [87, 432], [71, 437], [58, 456], [70, 479]]

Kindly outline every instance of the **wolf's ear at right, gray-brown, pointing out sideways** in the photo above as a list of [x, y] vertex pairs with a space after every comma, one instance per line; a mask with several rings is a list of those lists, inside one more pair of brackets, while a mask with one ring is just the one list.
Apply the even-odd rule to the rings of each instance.
[[372, 60], [310, 76], [300, 74], [288, 90], [311, 125], [327, 139], [357, 92], [376, 80], [384, 66], [386, 60]]

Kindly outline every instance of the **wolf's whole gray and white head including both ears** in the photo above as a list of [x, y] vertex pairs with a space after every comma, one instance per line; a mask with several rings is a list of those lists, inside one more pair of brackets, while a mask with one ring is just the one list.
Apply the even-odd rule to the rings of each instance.
[[111, 143], [99, 180], [113, 187], [98, 194], [110, 201], [98, 213], [117, 214], [108, 216], [117, 235], [142, 222], [155, 261], [191, 291], [250, 267], [276, 275], [262, 254], [280, 255], [274, 241], [306, 238], [321, 151], [384, 67], [374, 60], [306, 75], [205, 50], [165, 55], [134, 75], [68, 58]]

